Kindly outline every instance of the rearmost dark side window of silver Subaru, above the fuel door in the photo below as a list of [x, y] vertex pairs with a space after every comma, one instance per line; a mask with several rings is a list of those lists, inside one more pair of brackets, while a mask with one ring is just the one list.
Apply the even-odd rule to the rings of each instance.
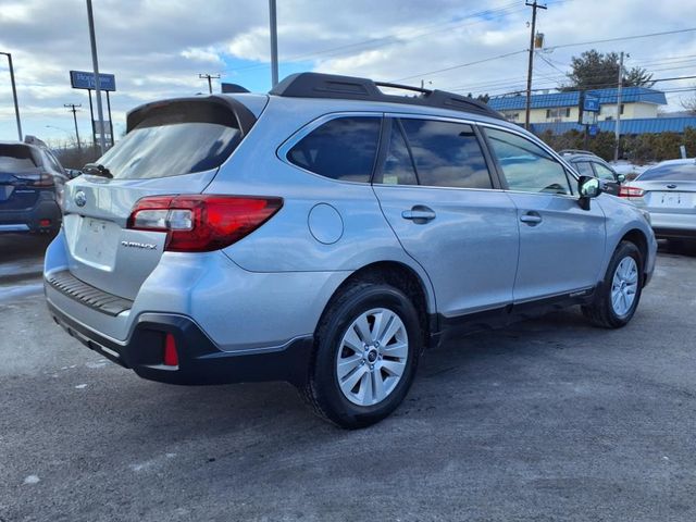
[[369, 183], [381, 126], [380, 116], [336, 117], [300, 139], [287, 159], [320, 176]]

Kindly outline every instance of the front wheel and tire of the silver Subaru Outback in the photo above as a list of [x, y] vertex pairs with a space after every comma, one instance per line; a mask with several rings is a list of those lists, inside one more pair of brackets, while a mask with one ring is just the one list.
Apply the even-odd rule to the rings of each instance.
[[620, 328], [633, 318], [643, 290], [643, 258], [631, 241], [621, 241], [611, 257], [594, 301], [582, 307], [595, 325]]

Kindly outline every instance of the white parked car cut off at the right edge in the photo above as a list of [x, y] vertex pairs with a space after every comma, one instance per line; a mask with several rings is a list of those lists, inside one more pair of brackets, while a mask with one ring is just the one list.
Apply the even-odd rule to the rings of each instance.
[[696, 159], [658, 163], [621, 187], [620, 196], [650, 213], [658, 238], [696, 239]]

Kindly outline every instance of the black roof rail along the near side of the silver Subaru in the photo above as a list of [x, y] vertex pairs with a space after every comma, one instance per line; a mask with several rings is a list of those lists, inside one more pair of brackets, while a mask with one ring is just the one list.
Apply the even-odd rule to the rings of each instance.
[[[380, 87], [402, 89], [418, 92], [417, 96], [386, 95]], [[426, 105], [449, 109], [452, 111], [482, 114], [498, 120], [505, 120], [502, 114], [490, 109], [485, 103], [465, 96], [447, 92], [445, 90], [422, 89], [408, 85], [373, 82], [368, 78], [339, 76], [321, 73], [297, 73], [287, 76], [273, 89], [270, 95], [289, 98], [332, 98], [347, 100], [384, 101], [407, 105]]]

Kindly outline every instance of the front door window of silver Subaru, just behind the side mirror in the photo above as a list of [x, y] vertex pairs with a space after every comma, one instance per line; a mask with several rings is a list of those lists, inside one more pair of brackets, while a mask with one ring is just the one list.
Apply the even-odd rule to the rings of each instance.
[[505, 130], [485, 132], [510, 190], [572, 194], [566, 169], [542, 147]]

